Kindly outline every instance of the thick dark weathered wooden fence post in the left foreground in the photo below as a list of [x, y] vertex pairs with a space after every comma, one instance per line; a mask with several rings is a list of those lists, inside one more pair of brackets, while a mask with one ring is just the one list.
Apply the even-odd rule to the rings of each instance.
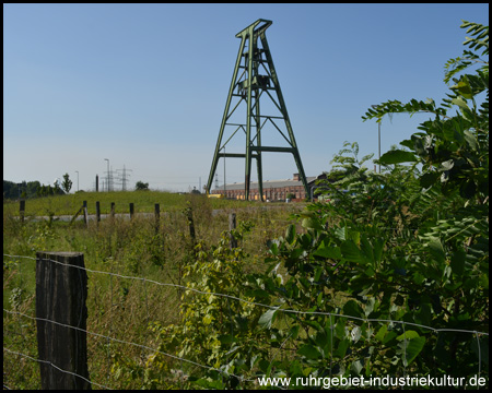
[[36, 252], [37, 348], [44, 390], [91, 389], [83, 267], [81, 252]]

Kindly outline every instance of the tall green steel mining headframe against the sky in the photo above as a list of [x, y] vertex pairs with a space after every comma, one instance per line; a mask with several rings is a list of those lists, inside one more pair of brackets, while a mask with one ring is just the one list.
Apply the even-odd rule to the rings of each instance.
[[[295, 164], [297, 165], [298, 176], [306, 190], [306, 195], [309, 194], [306, 176], [295, 143], [291, 121], [289, 120], [285, 102], [283, 100], [279, 79], [273, 67], [273, 60], [265, 35], [265, 32], [271, 24], [271, 21], [260, 19], [236, 34], [236, 37], [241, 38], [239, 52], [237, 55], [227, 102], [222, 117], [215, 153], [213, 154], [212, 167], [207, 183], [207, 192], [211, 191], [219, 158], [246, 158], [245, 199], [249, 200], [251, 158], [256, 158], [259, 194], [262, 201], [261, 152], [281, 152], [293, 154]], [[274, 114], [267, 115], [260, 112], [260, 98], [262, 96], [270, 100], [269, 107], [273, 108]], [[234, 106], [231, 109], [233, 102]], [[233, 120], [233, 114], [243, 103], [246, 104], [246, 121]], [[265, 100], [262, 103], [265, 103]], [[237, 115], [238, 112], [234, 116], [237, 117]], [[273, 132], [279, 132], [280, 135], [283, 136], [283, 146], [261, 145], [261, 132], [270, 131], [268, 130], [269, 127]], [[246, 153], [225, 153], [225, 145], [239, 130], [246, 134]], [[227, 135], [231, 134], [225, 143], [222, 142], [224, 131]]]

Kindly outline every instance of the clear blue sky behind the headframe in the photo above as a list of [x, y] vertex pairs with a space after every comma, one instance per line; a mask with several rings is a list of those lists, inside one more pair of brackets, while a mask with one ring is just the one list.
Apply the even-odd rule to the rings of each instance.
[[[465, 48], [461, 20], [488, 25], [489, 5], [3, 4], [3, 179], [48, 184], [68, 172], [75, 191], [79, 171], [90, 190], [108, 158], [131, 169], [129, 187], [204, 186], [235, 35], [258, 19], [273, 22], [280, 86], [305, 172], [317, 176], [344, 141], [377, 156], [377, 124], [361, 119], [371, 105], [441, 102], [444, 64]], [[384, 119], [382, 152], [427, 118]], [[243, 159], [225, 166], [227, 183], [244, 181]], [[296, 171], [290, 154], [263, 154], [265, 180]], [[223, 160], [218, 174], [222, 183]]]

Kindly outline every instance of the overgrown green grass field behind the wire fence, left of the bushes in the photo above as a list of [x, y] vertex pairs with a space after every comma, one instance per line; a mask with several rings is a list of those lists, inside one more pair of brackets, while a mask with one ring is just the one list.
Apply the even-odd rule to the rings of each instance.
[[[160, 203], [162, 218], [159, 231], [155, 233], [152, 216], [136, 216], [133, 221], [103, 219], [98, 225], [91, 222], [89, 228], [83, 222], [70, 225], [30, 219], [37, 215], [74, 214], [82, 201], [87, 201], [90, 213], [94, 213], [96, 201], [101, 202], [102, 213], [108, 213], [112, 202], [116, 203], [117, 213], [127, 213], [130, 202], [134, 203], [136, 212], [152, 213], [154, 204]], [[194, 258], [194, 241], [185, 214], [187, 207], [192, 211], [195, 241], [201, 242], [206, 249], [215, 245], [221, 234], [229, 229], [230, 212], [236, 212], [237, 225], [249, 223], [251, 229], [239, 242], [247, 252], [244, 269], [259, 272], [265, 269], [261, 261], [268, 249], [267, 241], [283, 236], [288, 223], [293, 222], [290, 214], [302, 206], [153, 191], [80, 193], [28, 200], [26, 219], [22, 223], [16, 217], [19, 202], [4, 203], [3, 253], [33, 259], [3, 258], [3, 308], [35, 315], [36, 251], [79, 251], [84, 253], [85, 266], [93, 271], [183, 284], [183, 267]], [[173, 287], [91, 272], [87, 275], [89, 332], [155, 347], [155, 336], [149, 330], [149, 323], [166, 325], [178, 322], [180, 318], [179, 294]], [[39, 366], [28, 358], [37, 357], [35, 320], [4, 311], [3, 343], [10, 350], [3, 352], [3, 384], [9, 389], [40, 389]], [[149, 352], [90, 334], [87, 348], [92, 381], [113, 389], [142, 386]], [[134, 370], [141, 370], [142, 374], [134, 374]], [[161, 386], [164, 388], [179, 388], [179, 384], [171, 379], [168, 385]]]

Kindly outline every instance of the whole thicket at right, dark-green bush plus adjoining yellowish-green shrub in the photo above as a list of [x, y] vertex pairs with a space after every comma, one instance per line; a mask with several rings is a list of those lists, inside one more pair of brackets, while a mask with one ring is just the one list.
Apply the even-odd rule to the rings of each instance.
[[[476, 36], [465, 45], [488, 55], [489, 27], [461, 27]], [[473, 66], [475, 74], [457, 78]], [[364, 168], [371, 156], [359, 159], [358, 144], [347, 143], [320, 188], [335, 203], [296, 215], [304, 230], [290, 225], [271, 243], [266, 274], [244, 275], [244, 255], [226, 251], [225, 240], [188, 267], [192, 288], [270, 307], [227, 303], [223, 323], [225, 299], [185, 293], [183, 325], [156, 331], [164, 347], [180, 345], [179, 356], [213, 368], [190, 370], [198, 377], [189, 381], [234, 388], [235, 372], [488, 376], [489, 338], [477, 332], [489, 329], [489, 66], [465, 50], [445, 68], [455, 84], [441, 106], [412, 99], [368, 109], [364, 120], [434, 118], [406, 148], [380, 157], [383, 174]]]

